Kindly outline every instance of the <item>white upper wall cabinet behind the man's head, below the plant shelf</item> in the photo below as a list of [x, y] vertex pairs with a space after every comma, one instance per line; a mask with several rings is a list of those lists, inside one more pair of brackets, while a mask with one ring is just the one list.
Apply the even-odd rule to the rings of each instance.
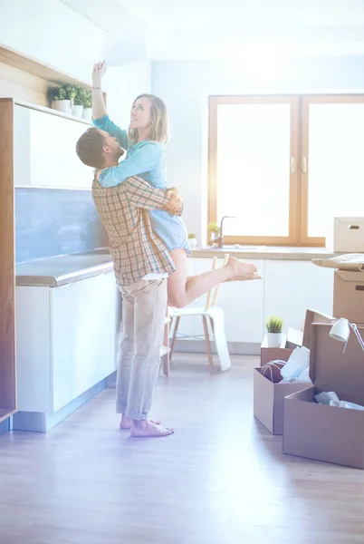
[[92, 169], [76, 155], [84, 122], [14, 105], [14, 186], [91, 189]]

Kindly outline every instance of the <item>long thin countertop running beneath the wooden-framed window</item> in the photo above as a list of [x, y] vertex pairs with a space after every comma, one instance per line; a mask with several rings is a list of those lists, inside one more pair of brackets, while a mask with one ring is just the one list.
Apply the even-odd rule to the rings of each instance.
[[338, 254], [326, 248], [285, 248], [275, 246], [226, 246], [225, 248], [193, 248], [192, 257], [222, 257], [225, 253], [244, 259], [312, 260], [331, 258]]

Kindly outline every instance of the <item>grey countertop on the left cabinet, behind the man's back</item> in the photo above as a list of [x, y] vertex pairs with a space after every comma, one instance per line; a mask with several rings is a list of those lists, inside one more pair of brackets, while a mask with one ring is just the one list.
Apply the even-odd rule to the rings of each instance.
[[107, 252], [89, 252], [49, 257], [16, 265], [16, 286], [62, 287], [89, 277], [111, 272]]

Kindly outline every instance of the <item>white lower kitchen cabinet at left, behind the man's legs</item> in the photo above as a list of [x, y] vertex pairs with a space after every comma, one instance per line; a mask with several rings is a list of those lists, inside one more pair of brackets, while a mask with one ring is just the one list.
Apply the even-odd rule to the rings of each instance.
[[[115, 372], [117, 310], [112, 272], [63, 287], [16, 288], [19, 413], [46, 419]], [[15, 414], [15, 427], [17, 419], [24, 414]]]

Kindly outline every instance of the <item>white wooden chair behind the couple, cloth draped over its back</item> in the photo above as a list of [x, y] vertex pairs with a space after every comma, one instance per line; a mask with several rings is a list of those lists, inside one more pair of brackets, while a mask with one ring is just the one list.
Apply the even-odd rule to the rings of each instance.
[[[224, 264], [226, 264], [228, 255], [225, 255]], [[212, 269], [216, 268], [217, 257], [213, 258]], [[169, 361], [172, 359], [173, 351], [176, 345], [176, 340], [178, 338], [185, 339], [197, 339], [206, 341], [206, 352], [208, 358], [208, 364], [210, 367], [210, 373], [214, 373], [214, 360], [211, 350], [211, 339], [215, 341], [216, 352], [219, 358], [220, 367], [222, 371], [227, 370], [231, 366], [231, 359], [229, 355], [229, 350], [227, 348], [226, 337], [225, 337], [225, 315], [224, 310], [216, 306], [217, 295], [219, 292], [220, 285], [208, 291], [206, 296], [206, 305], [205, 307], [194, 308], [187, 306], [185, 308], [169, 308], [169, 317], [171, 318], [171, 328], [173, 320], [176, 319], [172, 342], [170, 346]], [[215, 291], [215, 292], [214, 292]], [[211, 302], [212, 300], [212, 302]], [[179, 335], [178, 326], [181, 317], [183, 316], [201, 316], [202, 323], [204, 326], [204, 335]], [[211, 332], [209, 331], [209, 325], [211, 327]], [[168, 361], [168, 363], [169, 363]]]

